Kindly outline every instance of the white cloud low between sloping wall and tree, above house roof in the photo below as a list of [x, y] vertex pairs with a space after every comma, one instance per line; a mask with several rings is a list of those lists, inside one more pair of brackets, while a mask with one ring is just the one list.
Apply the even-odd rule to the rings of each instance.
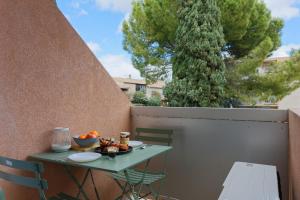
[[135, 69], [131, 60], [124, 55], [107, 54], [99, 57], [100, 62], [112, 77], [141, 78], [140, 72]]

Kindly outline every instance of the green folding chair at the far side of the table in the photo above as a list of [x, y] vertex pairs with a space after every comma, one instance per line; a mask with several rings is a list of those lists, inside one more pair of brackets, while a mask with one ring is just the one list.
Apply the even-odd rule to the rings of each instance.
[[[173, 130], [169, 129], [137, 128], [135, 139], [145, 143], [150, 142], [170, 146], [172, 143], [172, 134]], [[117, 199], [123, 199], [124, 196], [127, 196], [127, 193], [130, 191], [127, 187], [139, 187], [138, 192], [137, 194], [134, 194], [134, 197], [144, 198], [152, 195], [156, 200], [159, 199], [160, 189], [166, 178], [166, 158], [167, 154], [165, 154], [164, 166], [160, 172], [148, 171], [147, 167], [150, 162], [150, 160], [148, 160], [144, 170], [129, 169], [126, 170], [126, 172], [113, 173], [112, 176], [114, 180], [122, 189], [122, 194]], [[124, 184], [121, 184], [121, 182]], [[159, 183], [159, 187], [155, 190], [153, 184], [157, 182]], [[148, 189], [148, 192], [145, 194], [142, 194], [143, 186]]]

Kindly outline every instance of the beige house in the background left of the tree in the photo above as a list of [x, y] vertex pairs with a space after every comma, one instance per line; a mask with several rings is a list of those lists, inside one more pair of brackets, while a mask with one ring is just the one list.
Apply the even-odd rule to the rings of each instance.
[[134, 93], [144, 91], [146, 96], [159, 96], [163, 98], [163, 88], [165, 87], [164, 81], [157, 81], [153, 84], [147, 84], [145, 80], [115, 77], [114, 80], [121, 88], [121, 90], [131, 99]]

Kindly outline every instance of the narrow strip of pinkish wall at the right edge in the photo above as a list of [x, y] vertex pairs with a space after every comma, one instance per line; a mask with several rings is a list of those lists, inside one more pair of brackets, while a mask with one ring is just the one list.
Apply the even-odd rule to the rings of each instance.
[[290, 199], [300, 199], [300, 109], [289, 112]]

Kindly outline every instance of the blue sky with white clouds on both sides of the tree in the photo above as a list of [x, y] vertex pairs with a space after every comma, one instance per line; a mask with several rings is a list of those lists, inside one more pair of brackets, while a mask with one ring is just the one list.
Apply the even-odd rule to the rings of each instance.
[[[131, 12], [132, 0], [56, 0], [70, 24], [113, 77], [141, 78], [123, 50], [121, 25]], [[274, 17], [284, 19], [282, 46], [272, 57], [300, 49], [300, 0], [263, 0]]]

